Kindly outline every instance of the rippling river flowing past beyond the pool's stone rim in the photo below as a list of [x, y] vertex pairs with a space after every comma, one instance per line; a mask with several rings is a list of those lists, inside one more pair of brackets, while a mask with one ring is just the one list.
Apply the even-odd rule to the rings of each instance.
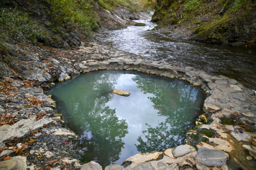
[[256, 89], [256, 50], [243, 47], [223, 47], [196, 43], [177, 37], [172, 32], [147, 31], [156, 26], [149, 20], [144, 27], [108, 31], [104, 44], [143, 56], [180, 66], [192, 66], [216, 75], [225, 75]]

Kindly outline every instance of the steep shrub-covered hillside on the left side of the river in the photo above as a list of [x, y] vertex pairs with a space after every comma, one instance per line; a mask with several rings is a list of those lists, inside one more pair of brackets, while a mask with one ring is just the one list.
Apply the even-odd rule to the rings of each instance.
[[[61, 49], [78, 49], [91, 39], [91, 31], [121, 29], [130, 19], [149, 19], [147, 12], [133, 1], [106, 1], [111, 12], [93, 0], [4, 0], [0, 8], [0, 50], [9, 43], [50, 45]], [[113, 4], [113, 2], [118, 2]], [[104, 5], [103, 5], [104, 6]]]

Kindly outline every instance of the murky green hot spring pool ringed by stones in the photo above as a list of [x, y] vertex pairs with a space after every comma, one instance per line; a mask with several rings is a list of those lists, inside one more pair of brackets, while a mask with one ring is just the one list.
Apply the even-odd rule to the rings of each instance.
[[[112, 93], [123, 89], [123, 97]], [[188, 82], [132, 71], [97, 71], [57, 83], [48, 94], [79, 135], [83, 162], [103, 168], [137, 153], [183, 144], [204, 92]]]

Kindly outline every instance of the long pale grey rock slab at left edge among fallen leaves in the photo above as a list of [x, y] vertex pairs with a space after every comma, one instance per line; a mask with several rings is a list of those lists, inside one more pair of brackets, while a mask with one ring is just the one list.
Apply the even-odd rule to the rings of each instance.
[[[13, 137], [22, 137], [28, 132], [30, 132], [29, 129], [32, 131], [43, 127], [44, 124], [49, 124], [53, 122], [51, 118], [46, 118], [46, 119], [40, 119], [40, 120], [35, 120], [35, 119], [22, 119], [15, 123], [14, 125], [8, 127], [5, 130], [0, 131], [0, 147], [4, 146], [4, 141], [7, 139], [13, 139]], [[22, 127], [19, 127], [20, 125], [23, 125]]]

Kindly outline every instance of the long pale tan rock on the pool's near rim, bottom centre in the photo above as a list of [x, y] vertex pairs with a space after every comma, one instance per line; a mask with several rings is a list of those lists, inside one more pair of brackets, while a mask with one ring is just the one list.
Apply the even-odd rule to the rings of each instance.
[[158, 159], [161, 156], [162, 152], [153, 152], [153, 153], [138, 153], [128, 159], [126, 159], [124, 162], [131, 161], [135, 163], [141, 163], [146, 162], [149, 160], [155, 160]]

